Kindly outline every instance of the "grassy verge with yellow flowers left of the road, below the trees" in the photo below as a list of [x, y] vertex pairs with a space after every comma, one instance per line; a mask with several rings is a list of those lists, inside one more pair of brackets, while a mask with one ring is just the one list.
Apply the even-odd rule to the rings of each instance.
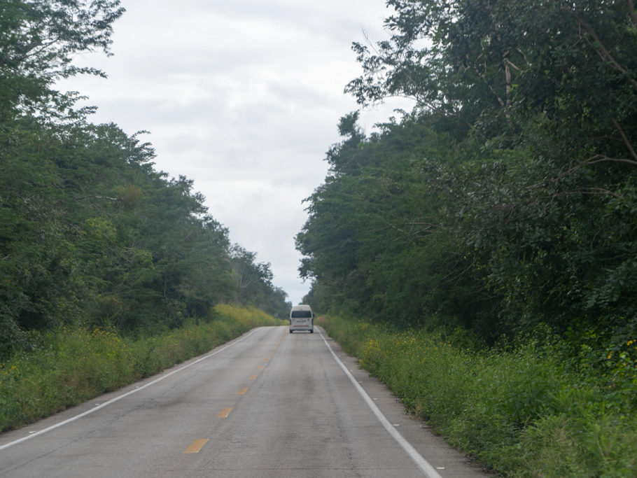
[[35, 353], [0, 363], [0, 431], [148, 377], [262, 325], [284, 322], [253, 307], [217, 305], [210, 323], [131, 339], [115, 329], [47, 332]]

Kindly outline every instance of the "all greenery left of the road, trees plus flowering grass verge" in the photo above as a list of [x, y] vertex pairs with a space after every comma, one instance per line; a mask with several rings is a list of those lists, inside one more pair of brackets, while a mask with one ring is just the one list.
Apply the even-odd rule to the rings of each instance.
[[[118, 0], [0, 2], [0, 431], [210, 350], [290, 304], [185, 176], [60, 78], [105, 76]], [[225, 305], [239, 304], [237, 307]]]

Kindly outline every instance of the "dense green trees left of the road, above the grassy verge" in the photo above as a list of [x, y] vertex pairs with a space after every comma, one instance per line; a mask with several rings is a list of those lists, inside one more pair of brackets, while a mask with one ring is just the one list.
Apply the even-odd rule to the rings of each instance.
[[59, 325], [137, 333], [209, 319], [219, 302], [284, 316], [269, 264], [230, 244], [193, 181], [153, 149], [87, 122], [55, 90], [73, 54], [109, 53], [119, 1], [0, 3], [0, 358]]

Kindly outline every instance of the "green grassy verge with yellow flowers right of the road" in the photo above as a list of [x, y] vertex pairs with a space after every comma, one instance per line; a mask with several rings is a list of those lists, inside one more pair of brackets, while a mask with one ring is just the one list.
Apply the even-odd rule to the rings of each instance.
[[321, 325], [407, 409], [500, 475], [636, 476], [636, 364], [626, 356], [595, 374], [550, 342], [480, 353], [422, 331], [339, 317]]

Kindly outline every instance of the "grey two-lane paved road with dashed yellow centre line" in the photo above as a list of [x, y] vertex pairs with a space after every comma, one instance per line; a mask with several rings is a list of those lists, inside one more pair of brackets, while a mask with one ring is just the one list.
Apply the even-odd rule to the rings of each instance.
[[2, 477], [482, 477], [320, 328], [258, 328], [0, 435]]

